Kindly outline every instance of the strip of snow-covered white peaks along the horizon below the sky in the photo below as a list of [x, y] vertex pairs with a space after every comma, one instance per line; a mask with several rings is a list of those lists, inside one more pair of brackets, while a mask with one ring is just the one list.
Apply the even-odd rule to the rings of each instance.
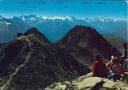
[[[27, 22], [29, 23], [42, 23], [42, 22], [87, 22], [87, 23], [127, 23], [126, 19], [112, 19], [112, 18], [105, 18], [105, 17], [97, 17], [97, 18], [77, 18], [77, 17], [70, 17], [70, 16], [37, 16], [37, 15], [21, 15], [21, 16], [14, 16], [13, 18], [9, 18], [8, 20], [0, 15], [0, 22], [4, 23], [6, 21], [13, 21], [13, 22]], [[9, 24], [8, 24], [9, 25]]]

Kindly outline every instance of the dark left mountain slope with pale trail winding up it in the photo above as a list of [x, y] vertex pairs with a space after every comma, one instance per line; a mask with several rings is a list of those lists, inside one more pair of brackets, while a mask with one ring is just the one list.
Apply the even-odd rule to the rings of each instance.
[[[32, 32], [30, 32], [32, 31]], [[39, 90], [87, 73], [72, 56], [32, 28], [0, 49], [1, 90]]]

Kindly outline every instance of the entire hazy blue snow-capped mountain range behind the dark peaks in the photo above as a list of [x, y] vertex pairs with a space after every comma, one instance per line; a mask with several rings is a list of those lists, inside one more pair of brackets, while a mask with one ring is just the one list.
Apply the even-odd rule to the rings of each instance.
[[80, 19], [69, 16], [36, 15], [21, 15], [14, 16], [12, 18], [5, 18], [0, 16], [0, 42], [7, 42], [13, 38], [17, 32], [24, 32], [30, 27], [38, 28], [40, 32], [42, 32], [50, 41], [56, 42], [60, 40], [66, 32], [68, 32], [76, 25], [93, 27], [101, 34], [127, 30], [127, 21], [123, 19]]

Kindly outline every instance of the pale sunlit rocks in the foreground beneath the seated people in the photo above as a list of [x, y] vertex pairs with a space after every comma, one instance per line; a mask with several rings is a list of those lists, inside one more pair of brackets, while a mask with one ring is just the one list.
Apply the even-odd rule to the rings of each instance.
[[54, 83], [45, 90], [128, 90], [128, 83], [84, 75], [73, 81]]

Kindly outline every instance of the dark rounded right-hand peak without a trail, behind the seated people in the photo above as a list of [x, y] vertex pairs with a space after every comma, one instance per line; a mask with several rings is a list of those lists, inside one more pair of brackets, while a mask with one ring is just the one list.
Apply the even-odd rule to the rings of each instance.
[[[57, 45], [84, 63], [90, 62], [98, 54], [105, 58], [111, 56], [112, 45], [91, 27], [80, 25], [74, 27]], [[118, 50], [117, 53], [119, 53]]]

